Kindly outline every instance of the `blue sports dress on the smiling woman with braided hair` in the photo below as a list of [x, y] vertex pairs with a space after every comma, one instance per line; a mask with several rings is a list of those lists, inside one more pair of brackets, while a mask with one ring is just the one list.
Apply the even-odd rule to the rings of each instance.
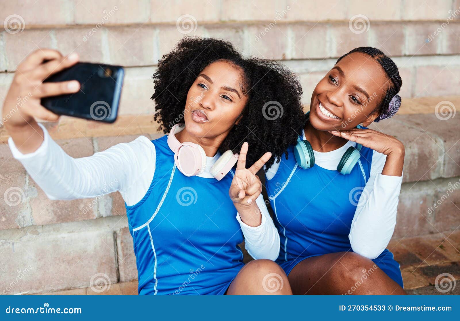
[[[276, 263], [286, 274], [303, 259], [353, 251], [348, 235], [357, 202], [351, 202], [349, 197], [351, 190], [365, 186], [373, 150], [363, 146], [360, 153], [360, 161], [351, 173], [341, 175], [318, 165], [300, 168], [290, 146], [288, 159], [283, 157], [275, 176], [265, 181], [281, 238]], [[400, 265], [388, 249], [372, 261], [403, 287]]]

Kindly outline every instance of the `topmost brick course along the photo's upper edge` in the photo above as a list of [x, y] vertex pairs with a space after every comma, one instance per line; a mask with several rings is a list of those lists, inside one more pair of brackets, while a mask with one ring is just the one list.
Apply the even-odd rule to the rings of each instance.
[[[236, 4], [235, 4], [236, 3]], [[234, 5], [235, 4], [235, 5]], [[356, 12], [361, 12], [371, 21], [394, 20], [419, 20], [419, 21], [445, 21], [452, 9], [458, 7], [458, 1], [441, 1], [433, 6], [431, 2], [419, 3], [418, 1], [395, 0], [392, 6], [385, 3], [362, 3], [360, 1], [329, 1], [328, 12], [324, 11], [323, 0], [311, 1], [212, 1], [210, 3], [191, 4], [187, 0], [178, 0], [165, 3], [161, 0], [140, 0], [137, 6], [128, 3], [113, 2], [99, 3], [98, 1], [81, 0], [75, 3], [72, 0], [53, 0], [52, 22], [59, 25], [75, 24], [132, 24], [132, 23], [176, 23], [179, 16], [188, 13], [200, 23], [232, 22], [232, 21], [311, 21], [329, 22], [330, 20], [343, 20], [348, 22]], [[27, 28], [49, 26], [50, 12], [47, 6], [40, 6], [33, 1], [24, 7], [14, 1], [4, 5], [0, 20], [5, 20], [13, 13], [21, 15], [27, 22]], [[284, 12], [283, 12], [284, 11]], [[105, 17], [105, 19], [103, 19]], [[277, 20], [274, 20], [277, 18]]]

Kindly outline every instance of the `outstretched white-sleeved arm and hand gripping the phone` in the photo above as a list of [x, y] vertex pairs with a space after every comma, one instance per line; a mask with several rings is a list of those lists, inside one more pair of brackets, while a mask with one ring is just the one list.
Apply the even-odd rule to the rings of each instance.
[[11, 135], [8, 144], [13, 156], [51, 199], [96, 197], [119, 190], [130, 205], [144, 196], [148, 189], [145, 185], [150, 184], [155, 170], [152, 167], [155, 148], [147, 137], [118, 144], [90, 157], [72, 158], [35, 121], [35, 118], [58, 120], [57, 114], [40, 105], [40, 99], [76, 92], [80, 84], [75, 80], [59, 83], [43, 83], [43, 80], [77, 61], [76, 54], [62, 56], [59, 51], [39, 49], [21, 62], [2, 110], [2, 120]]

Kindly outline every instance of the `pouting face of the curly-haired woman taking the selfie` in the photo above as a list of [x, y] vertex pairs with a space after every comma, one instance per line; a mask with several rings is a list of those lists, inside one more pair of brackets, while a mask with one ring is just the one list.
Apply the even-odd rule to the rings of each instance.
[[187, 132], [197, 138], [228, 134], [248, 100], [242, 84], [242, 70], [231, 62], [217, 61], [204, 68], [187, 94]]

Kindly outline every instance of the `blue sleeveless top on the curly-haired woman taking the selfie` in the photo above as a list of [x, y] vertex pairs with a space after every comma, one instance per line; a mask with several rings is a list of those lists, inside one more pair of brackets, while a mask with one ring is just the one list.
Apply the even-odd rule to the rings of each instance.
[[137, 204], [125, 206], [134, 241], [139, 294], [224, 294], [242, 268], [243, 234], [222, 180], [187, 177], [167, 135], [155, 144], [155, 175]]

